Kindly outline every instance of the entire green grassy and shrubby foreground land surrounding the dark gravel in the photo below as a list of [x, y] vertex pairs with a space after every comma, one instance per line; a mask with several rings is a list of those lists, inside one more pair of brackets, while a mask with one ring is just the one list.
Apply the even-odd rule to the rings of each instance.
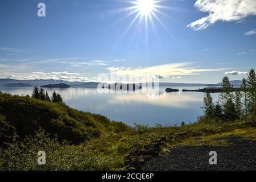
[[[228, 135], [256, 139], [254, 122], [199, 119], [181, 127], [131, 128], [63, 104], [10, 94], [0, 94], [0, 115], [0, 139], [7, 142], [0, 147], [0, 170], [123, 170], [131, 148], [161, 137], [168, 139], [165, 152], [187, 144], [226, 146], [214, 138]], [[177, 133], [184, 135], [173, 138]], [[38, 151], [46, 152], [45, 166], [37, 164]]]

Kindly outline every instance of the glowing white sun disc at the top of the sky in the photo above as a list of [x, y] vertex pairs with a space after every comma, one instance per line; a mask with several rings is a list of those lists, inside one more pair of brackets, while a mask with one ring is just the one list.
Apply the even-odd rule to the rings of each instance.
[[149, 16], [155, 10], [155, 0], [137, 0], [135, 3], [137, 4], [139, 13], [143, 16]]

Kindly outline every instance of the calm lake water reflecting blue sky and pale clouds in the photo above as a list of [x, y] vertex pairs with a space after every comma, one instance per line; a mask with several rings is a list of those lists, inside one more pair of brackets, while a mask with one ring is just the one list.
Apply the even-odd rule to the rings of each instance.
[[[198, 89], [198, 86], [173, 86], [179, 92], [166, 93], [166, 87], [159, 91], [146, 93], [98, 93], [97, 89], [69, 88], [55, 89], [63, 97], [67, 105], [78, 110], [89, 111], [106, 115], [114, 121], [122, 121], [127, 125], [155, 123], [162, 125], [180, 124], [197, 121], [202, 114], [204, 93], [182, 92], [182, 89]], [[12, 95], [30, 95], [33, 88], [6, 88], [0, 87], [1, 92]], [[53, 89], [45, 89], [52, 93]], [[159, 94], [158, 94], [159, 93]], [[218, 93], [212, 94], [214, 101], [218, 100]]]

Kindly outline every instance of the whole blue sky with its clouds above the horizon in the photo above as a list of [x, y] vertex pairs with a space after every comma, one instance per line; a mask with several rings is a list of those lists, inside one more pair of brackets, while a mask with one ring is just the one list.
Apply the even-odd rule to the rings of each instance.
[[[39, 18], [41, 2], [46, 17]], [[225, 74], [242, 79], [255, 68], [254, 0], [155, 2], [157, 18], [138, 16], [129, 28], [139, 12], [129, 9], [131, 2], [2, 0], [0, 77], [94, 81], [113, 71], [215, 83]]]

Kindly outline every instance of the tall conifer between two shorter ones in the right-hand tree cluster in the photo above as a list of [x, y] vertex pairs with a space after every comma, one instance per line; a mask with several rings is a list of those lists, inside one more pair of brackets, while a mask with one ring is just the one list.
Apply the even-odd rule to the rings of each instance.
[[230, 84], [229, 77], [227, 76], [223, 77], [222, 79], [222, 92], [219, 94], [219, 98], [222, 102], [225, 118], [230, 121], [237, 119], [235, 105], [233, 102], [232, 85]]

